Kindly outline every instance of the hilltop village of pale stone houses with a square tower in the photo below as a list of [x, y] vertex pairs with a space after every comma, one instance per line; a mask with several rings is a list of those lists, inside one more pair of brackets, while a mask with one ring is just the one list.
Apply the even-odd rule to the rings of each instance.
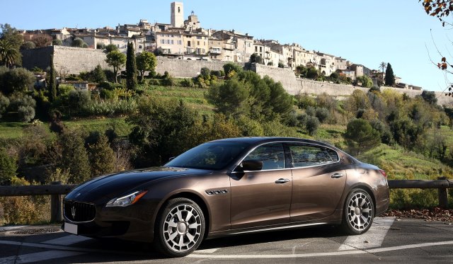
[[[19, 30], [24, 41], [43, 40], [44, 45], [74, 46], [103, 50], [115, 45], [126, 52], [132, 42], [135, 52], [154, 52], [171, 59], [237, 62], [243, 64], [259, 58], [258, 63], [296, 71], [297, 67], [314, 67], [320, 74], [330, 76], [334, 72], [352, 81], [367, 75], [379, 84], [384, 80], [384, 71], [373, 70], [362, 64], [352, 63], [343, 57], [306, 50], [297, 43], [280, 44], [277, 40], [256, 40], [248, 33], [236, 30], [202, 28], [200, 20], [192, 11], [184, 19], [181, 2], [171, 3], [171, 23], [149, 23], [141, 19], [137, 24], [117, 25], [115, 28], [62, 28], [45, 30]], [[303, 77], [303, 76], [302, 76]], [[395, 86], [421, 90], [421, 87], [402, 84], [395, 77]]]

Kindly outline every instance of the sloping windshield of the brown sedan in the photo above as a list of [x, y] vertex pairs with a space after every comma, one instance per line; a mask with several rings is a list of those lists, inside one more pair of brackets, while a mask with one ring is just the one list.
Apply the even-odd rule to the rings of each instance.
[[249, 144], [243, 142], [208, 142], [185, 151], [165, 166], [219, 170], [233, 161], [248, 146]]

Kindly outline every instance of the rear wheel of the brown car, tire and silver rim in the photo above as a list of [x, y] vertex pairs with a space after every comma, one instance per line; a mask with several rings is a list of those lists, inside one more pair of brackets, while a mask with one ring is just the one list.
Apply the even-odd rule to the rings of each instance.
[[341, 227], [348, 235], [360, 235], [368, 231], [374, 219], [374, 204], [367, 191], [353, 189], [343, 208]]

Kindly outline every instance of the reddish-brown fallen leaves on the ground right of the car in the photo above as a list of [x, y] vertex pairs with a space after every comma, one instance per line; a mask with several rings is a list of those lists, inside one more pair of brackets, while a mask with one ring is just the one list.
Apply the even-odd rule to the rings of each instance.
[[384, 217], [396, 217], [396, 218], [416, 218], [425, 219], [425, 221], [441, 221], [453, 224], [453, 210], [446, 210], [439, 207], [433, 209], [421, 209], [421, 210], [388, 210], [383, 214]]

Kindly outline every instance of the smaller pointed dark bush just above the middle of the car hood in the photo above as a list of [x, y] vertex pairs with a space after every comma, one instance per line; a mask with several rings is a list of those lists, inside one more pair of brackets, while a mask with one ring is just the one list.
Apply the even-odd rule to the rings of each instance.
[[101, 135], [98, 142], [88, 146], [92, 176], [110, 173], [115, 170], [115, 153], [109, 147], [108, 138]]

